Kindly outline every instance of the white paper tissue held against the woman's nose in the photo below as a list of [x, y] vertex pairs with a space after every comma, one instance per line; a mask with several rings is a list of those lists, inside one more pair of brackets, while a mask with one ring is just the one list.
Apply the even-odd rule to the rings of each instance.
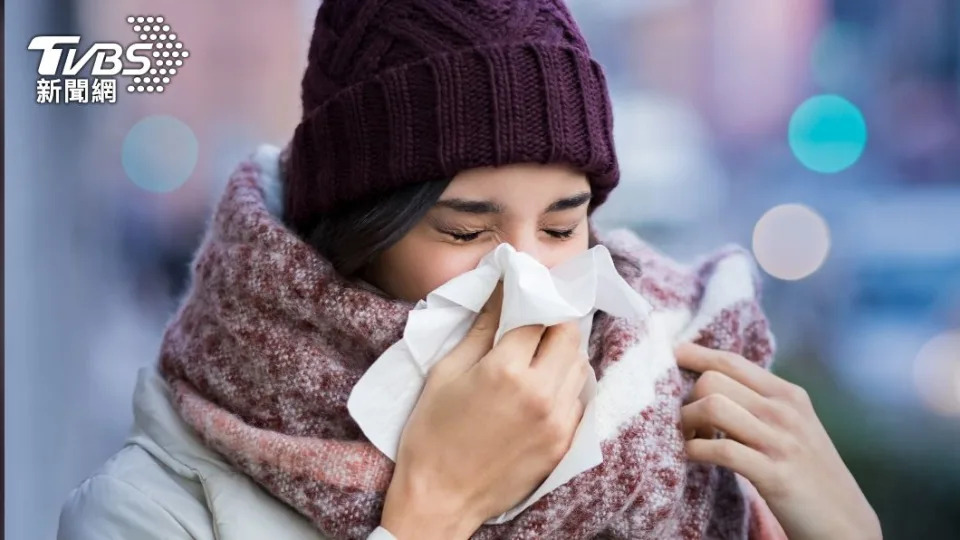
[[[506, 332], [530, 324], [579, 321], [580, 352], [586, 353], [593, 315], [646, 317], [651, 305], [617, 273], [602, 245], [550, 269], [510, 244], [500, 244], [477, 268], [441, 285], [410, 312], [403, 338], [367, 370], [347, 402], [350, 415], [381, 452], [396, 460], [400, 435], [430, 368], [463, 339], [477, 313], [503, 280], [503, 309], [494, 344]], [[583, 418], [570, 449], [527, 499], [488, 524], [515, 517], [574, 476], [603, 461], [596, 429], [596, 375], [584, 385]]]

